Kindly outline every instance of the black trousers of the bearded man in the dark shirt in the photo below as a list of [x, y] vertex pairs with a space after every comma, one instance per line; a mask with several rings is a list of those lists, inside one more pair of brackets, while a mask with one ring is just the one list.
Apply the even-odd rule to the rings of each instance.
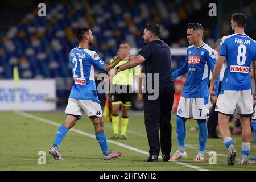
[[[144, 95], [145, 126], [150, 147], [150, 155], [159, 155], [160, 146], [162, 154], [170, 155], [171, 142], [171, 111], [174, 102], [174, 83], [159, 82], [159, 97], [148, 100]], [[159, 140], [160, 129], [160, 140]]]

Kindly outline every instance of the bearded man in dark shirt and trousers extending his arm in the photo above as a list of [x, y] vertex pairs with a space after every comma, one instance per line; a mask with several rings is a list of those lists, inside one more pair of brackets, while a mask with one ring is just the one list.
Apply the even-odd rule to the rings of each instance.
[[[115, 74], [139, 64], [145, 64], [146, 84], [151, 81], [148, 80], [148, 74], [152, 74], [152, 85], [156, 81], [159, 82], [158, 88], [154, 88], [155, 92], [159, 93], [158, 98], [152, 100], [150, 97], [152, 94], [148, 90], [143, 95], [145, 126], [150, 147], [150, 156], [146, 161], [158, 162], [160, 146], [163, 160], [168, 161], [172, 146], [171, 110], [174, 101], [170, 47], [160, 40], [160, 27], [157, 24], [148, 24], [144, 28], [142, 39], [146, 45], [136, 57], [115, 68]], [[158, 79], [154, 77], [155, 73], [159, 75]]]

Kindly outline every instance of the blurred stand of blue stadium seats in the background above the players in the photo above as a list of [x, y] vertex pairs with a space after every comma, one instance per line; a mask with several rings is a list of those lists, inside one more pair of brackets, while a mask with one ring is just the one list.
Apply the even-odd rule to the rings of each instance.
[[[52, 1], [47, 5], [48, 16], [46, 18], [32, 14], [32, 18], [26, 17], [25, 20], [16, 22], [14, 28], [18, 32], [9, 39], [9, 42], [15, 46], [15, 51], [11, 50], [10, 45], [10, 47], [6, 47], [6, 42], [0, 42], [0, 51], [6, 51], [4, 55], [0, 55], [0, 77], [12, 77], [12, 72], [9, 70], [13, 65], [9, 65], [8, 62], [11, 56], [19, 57], [19, 59], [26, 57], [30, 64], [28, 68], [22, 70], [20, 77], [23, 75], [32, 78], [71, 77], [68, 55], [71, 49], [78, 46], [75, 32], [79, 26], [92, 28], [97, 43], [90, 48], [105, 60], [106, 57], [116, 55], [118, 44], [126, 40], [127, 37], [134, 39], [133, 47], [142, 48], [144, 46], [142, 32], [145, 24], [156, 21], [164, 27], [164, 30], [171, 32], [172, 28], [177, 28], [180, 24], [186, 26], [185, 20], [197, 11], [197, 7], [189, 0], [163, 0], [162, 2], [164, 3], [163, 9], [159, 9], [161, 2], [148, 3], [146, 0], [114, 1], [110, 5], [104, 1], [90, 1], [90, 3], [87, 1], [79, 1], [79, 3]], [[198, 2], [200, 6], [205, 4], [204, 0]], [[166, 14], [162, 15], [161, 11]], [[247, 28], [254, 26], [255, 9], [250, 8], [250, 11], [252, 15], [248, 16]], [[40, 31], [42, 27], [45, 28]], [[0, 39], [5, 38], [7, 32], [8, 30], [0, 31]], [[205, 42], [216, 40], [218, 33], [217, 26], [211, 28], [209, 34], [204, 37]], [[187, 43], [179, 42], [180, 38], [176, 38], [179, 46], [187, 47]], [[168, 37], [164, 40], [169, 41], [170, 44], [173, 43], [173, 40], [168, 40]], [[130, 41], [133, 42], [133, 40]], [[47, 55], [45, 59], [40, 60], [38, 55], [42, 52]], [[179, 66], [184, 61], [183, 57], [176, 57], [174, 60]], [[54, 67], [55, 62], [59, 63], [59, 68], [49, 68]], [[1, 71], [2, 68], [5, 71]]]

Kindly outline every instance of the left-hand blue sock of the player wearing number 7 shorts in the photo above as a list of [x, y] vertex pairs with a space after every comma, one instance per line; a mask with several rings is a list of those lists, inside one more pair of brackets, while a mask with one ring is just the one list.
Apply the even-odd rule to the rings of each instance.
[[[185, 137], [186, 137], [186, 123], [187, 119], [177, 116], [176, 117], [176, 137], [178, 141], [179, 149], [183, 149], [185, 151]], [[184, 152], [180, 151], [180, 152]]]

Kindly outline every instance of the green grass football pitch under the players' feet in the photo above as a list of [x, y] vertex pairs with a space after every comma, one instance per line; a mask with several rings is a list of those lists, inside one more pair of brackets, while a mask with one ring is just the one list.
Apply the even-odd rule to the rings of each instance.
[[[65, 121], [63, 113], [29, 113], [31, 115], [48, 119], [59, 124]], [[177, 150], [177, 140], [175, 134], [175, 116], [172, 116], [172, 151]], [[227, 150], [222, 143], [222, 139], [208, 139], [206, 150], [216, 151], [217, 164], [210, 165], [208, 160], [210, 156], [205, 153], [204, 163], [195, 163], [198, 150], [198, 131], [189, 130], [191, 127], [197, 127], [197, 123], [190, 119], [187, 121], [187, 158], [180, 159], [179, 162], [193, 167], [183, 166], [172, 162], [158, 163], [144, 162], [148, 155], [138, 151], [133, 151], [127, 147], [118, 146], [114, 143], [108, 143], [109, 148], [115, 151], [122, 151], [119, 159], [104, 161], [100, 146], [97, 141], [91, 137], [69, 131], [61, 143], [61, 154], [64, 161], [56, 161], [48, 154], [51, 147], [57, 126], [49, 123], [40, 122], [37, 119], [27, 118], [18, 113], [1, 112], [0, 113], [0, 170], [147, 170], [147, 171], [172, 171], [172, 170], [196, 170], [193, 167], [200, 167], [208, 170], [256, 170], [256, 164], [250, 163], [248, 166], [240, 166], [237, 162], [234, 166], [226, 165]], [[94, 135], [93, 125], [89, 118], [84, 116], [74, 129], [84, 131]], [[148, 142], [144, 127], [144, 117], [130, 115], [128, 127], [129, 140], [117, 140], [126, 146], [137, 148], [137, 150], [148, 152]], [[111, 123], [105, 121], [105, 133], [108, 139], [112, 135]], [[235, 135], [234, 147], [238, 150], [237, 159], [241, 155], [241, 136]], [[46, 164], [39, 165], [39, 151], [46, 152]], [[256, 155], [256, 144], [251, 143], [251, 156]]]

